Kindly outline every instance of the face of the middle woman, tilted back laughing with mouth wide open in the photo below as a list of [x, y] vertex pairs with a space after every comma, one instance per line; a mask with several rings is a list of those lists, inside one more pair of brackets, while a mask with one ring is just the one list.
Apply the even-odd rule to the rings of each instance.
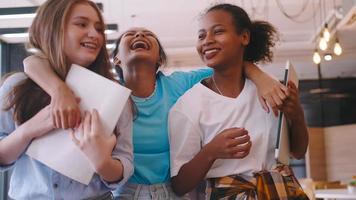
[[138, 62], [157, 66], [160, 60], [157, 37], [145, 28], [129, 29], [121, 37], [116, 59], [123, 67]]

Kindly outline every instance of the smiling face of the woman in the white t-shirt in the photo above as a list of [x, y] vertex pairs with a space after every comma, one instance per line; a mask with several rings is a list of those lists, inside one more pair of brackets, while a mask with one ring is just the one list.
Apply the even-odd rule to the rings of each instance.
[[249, 33], [238, 33], [228, 12], [210, 11], [199, 21], [197, 51], [209, 67], [229, 66], [243, 59], [248, 43]]

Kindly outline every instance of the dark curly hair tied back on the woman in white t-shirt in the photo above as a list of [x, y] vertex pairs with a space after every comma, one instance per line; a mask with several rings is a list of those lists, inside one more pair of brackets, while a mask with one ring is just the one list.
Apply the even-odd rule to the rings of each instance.
[[271, 62], [273, 52], [271, 48], [278, 40], [275, 27], [265, 21], [251, 21], [246, 11], [232, 4], [217, 4], [210, 7], [205, 14], [222, 10], [229, 13], [233, 19], [237, 33], [248, 31], [250, 43], [246, 46], [244, 60], [251, 62]]

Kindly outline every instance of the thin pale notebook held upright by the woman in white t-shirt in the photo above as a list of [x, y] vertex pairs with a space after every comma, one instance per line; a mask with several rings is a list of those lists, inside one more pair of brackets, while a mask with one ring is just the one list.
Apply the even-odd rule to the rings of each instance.
[[[288, 60], [286, 63], [285, 74], [284, 74], [284, 84], [287, 85], [288, 81], [292, 81], [298, 88], [299, 80], [297, 73]], [[279, 113], [278, 119], [278, 130], [277, 130], [277, 143], [275, 150], [275, 158], [278, 162], [289, 165], [289, 129], [286, 117], [282, 112]]]

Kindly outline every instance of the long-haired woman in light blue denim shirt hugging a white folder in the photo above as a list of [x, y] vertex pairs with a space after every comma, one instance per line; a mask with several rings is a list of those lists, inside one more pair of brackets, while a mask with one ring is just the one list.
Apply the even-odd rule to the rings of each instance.
[[[92, 1], [46, 1], [31, 25], [30, 44], [42, 52], [41, 56], [49, 61], [62, 80], [72, 63], [112, 79], [104, 45], [103, 18]], [[11, 198], [110, 199], [110, 190], [125, 183], [132, 174], [130, 106], [124, 108], [116, 134], [110, 137], [102, 134], [100, 117], [95, 110], [83, 117], [81, 132], [85, 137], [74, 137], [73, 140], [96, 171], [89, 185], [83, 185], [24, 153], [33, 139], [56, 127], [49, 105], [50, 96], [25, 74], [17, 73], [3, 83], [0, 99], [0, 169], [13, 168]]]

